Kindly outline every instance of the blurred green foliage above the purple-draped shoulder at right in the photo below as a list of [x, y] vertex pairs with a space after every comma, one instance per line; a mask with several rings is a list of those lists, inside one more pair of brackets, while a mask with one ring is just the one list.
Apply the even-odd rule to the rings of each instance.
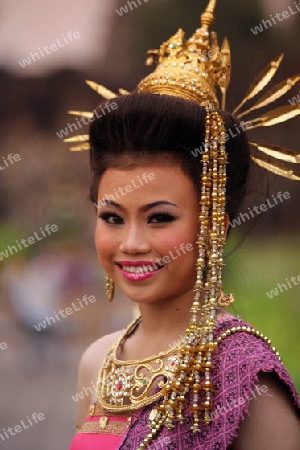
[[[236, 244], [232, 238], [230, 247]], [[299, 246], [299, 239], [286, 236], [248, 239], [229, 258], [224, 272], [226, 292], [235, 297], [231, 312], [271, 339], [298, 389], [300, 283], [290, 282], [292, 288], [272, 299], [266, 293], [300, 275]]]

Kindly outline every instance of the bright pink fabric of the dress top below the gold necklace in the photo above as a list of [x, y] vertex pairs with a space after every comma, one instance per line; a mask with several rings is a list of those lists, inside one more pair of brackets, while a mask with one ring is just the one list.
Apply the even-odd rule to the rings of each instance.
[[[108, 417], [109, 420], [126, 422], [124, 417]], [[86, 422], [97, 422], [99, 416], [87, 417]], [[69, 450], [117, 450], [122, 436], [113, 434], [77, 433], [69, 447]]]

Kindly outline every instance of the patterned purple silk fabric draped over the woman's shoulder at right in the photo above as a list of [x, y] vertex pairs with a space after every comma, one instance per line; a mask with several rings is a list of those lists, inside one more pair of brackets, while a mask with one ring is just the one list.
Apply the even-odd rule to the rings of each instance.
[[[218, 323], [215, 337], [231, 327], [249, 326], [241, 319], [232, 318]], [[210, 425], [202, 425], [199, 433], [190, 431], [191, 418], [185, 415], [184, 425], [165, 428], [148, 445], [147, 450], [226, 450], [238, 435], [241, 421], [249, 411], [252, 401], [268, 395], [258, 384], [260, 372], [275, 372], [289, 388], [296, 407], [300, 408], [293, 382], [270, 346], [256, 336], [245, 332], [225, 338], [214, 353], [212, 381], [214, 415]], [[269, 394], [270, 395], [270, 394]], [[123, 435], [118, 450], [136, 450], [149, 433], [149, 414], [156, 403], [139, 411], [130, 428]]]

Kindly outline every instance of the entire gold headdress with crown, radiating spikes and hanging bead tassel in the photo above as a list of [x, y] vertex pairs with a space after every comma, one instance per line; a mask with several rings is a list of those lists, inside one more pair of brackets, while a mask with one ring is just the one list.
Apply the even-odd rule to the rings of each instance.
[[[197, 281], [194, 286], [194, 302], [191, 309], [192, 317], [186, 330], [185, 339], [179, 349], [179, 357], [168, 384], [164, 386], [163, 402], [157, 407], [156, 417], [151, 422], [151, 433], [140, 445], [146, 448], [151, 439], [162, 426], [173, 427], [175, 420], [183, 422], [183, 410], [187, 404], [188, 393], [192, 395], [192, 430], [200, 429], [200, 421], [210, 422], [212, 409], [211, 382], [212, 354], [216, 349], [213, 330], [218, 299], [222, 291], [223, 249], [225, 244], [225, 207], [226, 207], [226, 162], [225, 127], [217, 112], [219, 102], [217, 91], [221, 92], [222, 109], [225, 109], [226, 91], [230, 81], [231, 62], [230, 48], [227, 39], [221, 48], [218, 46], [217, 35], [209, 32], [214, 19], [216, 0], [211, 0], [201, 16], [201, 27], [193, 36], [185, 40], [184, 32], [179, 29], [159, 50], [150, 50], [147, 64], [157, 62], [156, 69], [143, 79], [138, 87], [138, 93], [167, 94], [199, 103], [206, 108], [205, 145], [202, 155], [201, 197], [198, 234], [198, 259], [196, 263]], [[271, 81], [276, 73], [282, 55], [272, 61], [252, 84], [245, 99], [234, 113], [241, 110], [244, 104], [254, 98]], [[269, 90], [254, 106], [237, 117], [269, 105], [285, 94], [300, 76], [289, 78]], [[92, 89], [106, 99], [113, 99], [117, 94], [94, 82], [87, 82]], [[120, 89], [121, 95], [129, 92]], [[92, 113], [71, 111], [72, 114], [92, 117]], [[251, 119], [251, 128], [271, 126], [286, 121], [300, 114], [300, 105], [285, 106]], [[77, 142], [80, 145], [71, 150], [89, 149], [88, 136], [75, 136], [66, 142]], [[291, 163], [299, 163], [300, 155], [289, 150], [266, 144], [252, 143], [259, 151], [275, 159]], [[288, 167], [271, 162], [264, 156], [252, 157], [260, 166], [289, 179], [300, 180]], [[204, 295], [202, 301], [201, 295]], [[101, 397], [99, 385], [99, 401]], [[103, 404], [109, 409], [107, 403]]]

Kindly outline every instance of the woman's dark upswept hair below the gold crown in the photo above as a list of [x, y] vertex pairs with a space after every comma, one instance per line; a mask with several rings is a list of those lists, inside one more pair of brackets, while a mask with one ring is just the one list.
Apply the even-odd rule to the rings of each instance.
[[[152, 161], [156, 155], [171, 155], [199, 193], [205, 108], [193, 101], [154, 94], [134, 93], [118, 97], [114, 102], [117, 107], [95, 118], [90, 127], [93, 176], [90, 200], [97, 203], [99, 181], [108, 168], [128, 167], [122, 158], [125, 155], [133, 157], [129, 164], [135, 166], [140, 158]], [[226, 210], [232, 220], [245, 194], [250, 151], [246, 134], [238, 128], [239, 122], [229, 113], [220, 111], [220, 114], [226, 130], [231, 130], [234, 136], [226, 142]]]

